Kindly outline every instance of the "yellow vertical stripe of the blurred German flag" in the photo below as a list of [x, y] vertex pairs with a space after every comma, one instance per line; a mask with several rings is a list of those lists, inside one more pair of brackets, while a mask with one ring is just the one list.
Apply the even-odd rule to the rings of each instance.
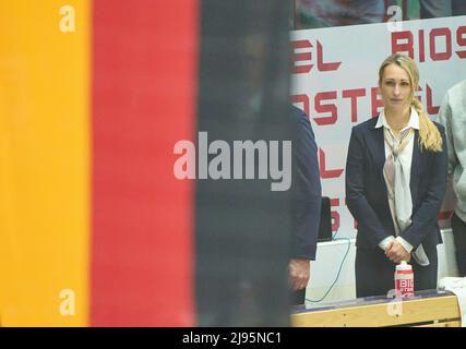
[[88, 324], [89, 1], [0, 1], [2, 326]]

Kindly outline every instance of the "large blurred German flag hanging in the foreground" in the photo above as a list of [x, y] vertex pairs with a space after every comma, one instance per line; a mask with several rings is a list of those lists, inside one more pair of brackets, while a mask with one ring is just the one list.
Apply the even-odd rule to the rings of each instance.
[[289, 191], [174, 146], [291, 140], [289, 9], [0, 2], [1, 326], [288, 324]]

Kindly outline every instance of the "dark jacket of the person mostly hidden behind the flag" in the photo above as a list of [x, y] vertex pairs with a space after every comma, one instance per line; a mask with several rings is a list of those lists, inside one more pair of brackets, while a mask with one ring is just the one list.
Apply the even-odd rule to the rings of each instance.
[[295, 227], [291, 239], [291, 257], [315, 260], [321, 216], [321, 179], [318, 146], [311, 123], [306, 113], [290, 106], [295, 121], [292, 152], [292, 197]]

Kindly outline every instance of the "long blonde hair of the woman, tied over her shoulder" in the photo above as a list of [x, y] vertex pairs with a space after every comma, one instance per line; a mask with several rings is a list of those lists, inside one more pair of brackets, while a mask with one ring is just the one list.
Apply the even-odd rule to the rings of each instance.
[[420, 148], [431, 152], [441, 152], [442, 151], [442, 136], [437, 129], [435, 124], [429, 119], [427, 113], [423, 110], [422, 104], [415, 96], [415, 91], [418, 88], [419, 84], [419, 70], [416, 67], [416, 63], [408, 56], [401, 53], [394, 53], [389, 56], [380, 65], [379, 69], [379, 85], [382, 83], [383, 71], [390, 64], [396, 64], [402, 68], [409, 76], [409, 83], [411, 85], [410, 93], [410, 106], [416, 109], [419, 115], [419, 145]]

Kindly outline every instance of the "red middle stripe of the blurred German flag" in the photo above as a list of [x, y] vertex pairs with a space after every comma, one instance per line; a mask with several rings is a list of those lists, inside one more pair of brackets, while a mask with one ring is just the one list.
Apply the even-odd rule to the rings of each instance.
[[191, 326], [198, 1], [94, 1], [93, 326]]

